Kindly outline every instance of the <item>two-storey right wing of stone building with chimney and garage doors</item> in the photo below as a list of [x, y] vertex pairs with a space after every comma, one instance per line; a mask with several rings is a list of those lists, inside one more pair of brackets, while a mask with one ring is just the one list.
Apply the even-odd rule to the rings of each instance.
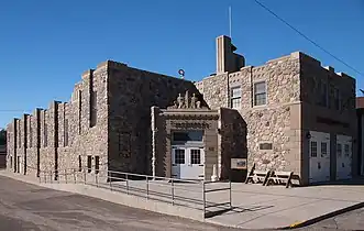
[[227, 61], [219, 51], [217, 56], [217, 74], [196, 86], [211, 109], [241, 113], [249, 167], [293, 170], [302, 184], [357, 174], [354, 78], [300, 52], [256, 67], [236, 62], [229, 69], [221, 69]]

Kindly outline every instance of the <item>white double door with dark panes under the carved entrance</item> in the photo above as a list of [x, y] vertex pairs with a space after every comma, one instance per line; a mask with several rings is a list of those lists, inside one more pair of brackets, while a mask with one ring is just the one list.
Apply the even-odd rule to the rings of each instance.
[[202, 147], [173, 147], [172, 177], [203, 179], [205, 152]]

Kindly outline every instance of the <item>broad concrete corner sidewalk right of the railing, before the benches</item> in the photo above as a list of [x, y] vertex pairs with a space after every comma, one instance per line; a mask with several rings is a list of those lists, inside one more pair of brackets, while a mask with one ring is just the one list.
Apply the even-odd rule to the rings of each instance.
[[279, 229], [302, 222], [310, 223], [352, 206], [364, 206], [364, 185], [286, 189], [280, 186], [233, 184], [232, 189], [234, 209], [208, 219], [210, 222], [229, 223], [243, 229]]

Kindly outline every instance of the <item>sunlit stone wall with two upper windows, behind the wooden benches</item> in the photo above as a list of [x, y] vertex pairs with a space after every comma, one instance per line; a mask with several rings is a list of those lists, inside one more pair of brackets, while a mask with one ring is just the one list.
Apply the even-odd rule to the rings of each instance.
[[[267, 105], [253, 107], [254, 82], [262, 80], [266, 81]], [[269, 61], [263, 66], [244, 67], [240, 72], [229, 74], [228, 77], [225, 75], [208, 77], [202, 82], [201, 94], [212, 109], [229, 105], [229, 86], [241, 86], [242, 98], [239, 111], [247, 124], [249, 167], [255, 164], [257, 169], [295, 169], [299, 174], [299, 163], [291, 162], [290, 156], [299, 156], [300, 153], [290, 153], [289, 142], [291, 136], [300, 135], [290, 128], [291, 110], [299, 109], [295, 105], [300, 100], [297, 53]], [[221, 96], [221, 90], [217, 91], [217, 89], [225, 89], [225, 94], [222, 97], [214, 97]], [[273, 147], [260, 150], [261, 143], [272, 143]]]

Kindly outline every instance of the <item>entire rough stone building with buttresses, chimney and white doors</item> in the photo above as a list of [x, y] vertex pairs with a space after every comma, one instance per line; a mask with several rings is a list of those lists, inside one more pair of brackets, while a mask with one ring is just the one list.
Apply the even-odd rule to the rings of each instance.
[[219, 36], [217, 72], [198, 82], [99, 64], [68, 102], [9, 123], [9, 169], [242, 180], [247, 161], [304, 185], [357, 175], [355, 79], [300, 52], [255, 67], [235, 51]]

